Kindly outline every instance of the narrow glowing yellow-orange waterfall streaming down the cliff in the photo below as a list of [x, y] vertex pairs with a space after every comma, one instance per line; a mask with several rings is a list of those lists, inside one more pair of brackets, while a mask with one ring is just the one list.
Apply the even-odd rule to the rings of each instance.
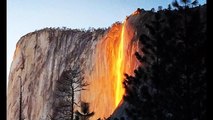
[[124, 88], [122, 86], [123, 74], [124, 74], [124, 31], [125, 21], [122, 24], [120, 43], [118, 46], [118, 55], [116, 60], [116, 97], [115, 106], [118, 106], [124, 94]]

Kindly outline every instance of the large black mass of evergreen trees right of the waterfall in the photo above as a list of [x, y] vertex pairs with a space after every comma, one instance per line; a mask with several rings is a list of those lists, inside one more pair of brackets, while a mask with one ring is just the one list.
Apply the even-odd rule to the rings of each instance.
[[143, 54], [135, 55], [143, 66], [125, 74], [126, 113], [132, 120], [206, 119], [205, 18], [199, 8], [186, 21], [182, 11], [167, 15], [158, 11], [146, 24], [150, 35], [140, 36]]

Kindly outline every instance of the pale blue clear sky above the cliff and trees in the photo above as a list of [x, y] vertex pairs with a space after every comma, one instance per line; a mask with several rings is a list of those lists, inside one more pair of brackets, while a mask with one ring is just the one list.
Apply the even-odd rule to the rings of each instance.
[[[7, 83], [18, 40], [45, 27], [103, 28], [137, 8], [167, 8], [172, 0], [7, 0]], [[202, 5], [206, 0], [199, 0]]]

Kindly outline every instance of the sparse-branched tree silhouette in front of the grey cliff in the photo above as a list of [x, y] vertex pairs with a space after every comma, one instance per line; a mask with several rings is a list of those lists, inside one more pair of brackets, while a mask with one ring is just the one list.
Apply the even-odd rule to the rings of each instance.
[[75, 94], [86, 90], [87, 85], [89, 84], [84, 81], [79, 67], [65, 70], [62, 73], [61, 78], [57, 81], [54, 119], [74, 119], [74, 106], [79, 106], [75, 102]]

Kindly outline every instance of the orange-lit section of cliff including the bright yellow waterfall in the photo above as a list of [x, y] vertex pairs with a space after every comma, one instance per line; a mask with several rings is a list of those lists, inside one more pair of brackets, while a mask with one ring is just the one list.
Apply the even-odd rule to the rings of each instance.
[[134, 34], [125, 21], [114, 24], [98, 41], [92, 56], [94, 65], [85, 71], [90, 85], [81, 93], [81, 100], [89, 102], [90, 110], [95, 112], [91, 120], [109, 117], [119, 105], [124, 94], [123, 74], [132, 74], [138, 64], [134, 56], [137, 42], [132, 42]]

